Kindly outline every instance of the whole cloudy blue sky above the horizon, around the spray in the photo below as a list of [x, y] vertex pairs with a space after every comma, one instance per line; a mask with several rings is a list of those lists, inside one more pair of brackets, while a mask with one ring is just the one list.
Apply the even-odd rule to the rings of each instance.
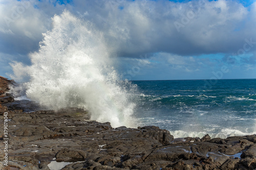
[[102, 32], [123, 78], [256, 79], [255, 0], [0, 0], [0, 76], [31, 64], [65, 9]]

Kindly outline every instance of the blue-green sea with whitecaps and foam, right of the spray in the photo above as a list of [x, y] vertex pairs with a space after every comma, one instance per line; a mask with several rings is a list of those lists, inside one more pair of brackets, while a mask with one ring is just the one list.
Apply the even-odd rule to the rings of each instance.
[[133, 81], [135, 117], [174, 137], [256, 134], [256, 79]]

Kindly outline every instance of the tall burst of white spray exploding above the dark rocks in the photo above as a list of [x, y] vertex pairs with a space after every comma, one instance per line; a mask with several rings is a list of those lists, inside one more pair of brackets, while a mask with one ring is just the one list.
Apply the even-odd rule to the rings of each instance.
[[29, 55], [32, 65], [12, 66], [15, 80], [29, 78], [27, 98], [49, 109], [88, 109], [91, 119], [133, 127], [135, 88], [120, 81], [102, 33], [64, 11], [52, 18], [52, 30], [43, 36], [38, 52]]

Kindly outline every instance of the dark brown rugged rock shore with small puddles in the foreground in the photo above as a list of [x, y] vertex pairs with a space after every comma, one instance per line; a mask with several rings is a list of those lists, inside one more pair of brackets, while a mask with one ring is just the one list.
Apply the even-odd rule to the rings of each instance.
[[112, 128], [77, 108], [25, 112], [7, 93], [10, 83], [0, 77], [0, 169], [256, 168], [256, 135], [174, 138], [155, 126]]

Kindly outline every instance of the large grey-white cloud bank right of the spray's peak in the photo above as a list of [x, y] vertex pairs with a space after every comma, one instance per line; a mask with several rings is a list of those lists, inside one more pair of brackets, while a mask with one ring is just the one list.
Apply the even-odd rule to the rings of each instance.
[[245, 38], [256, 39], [255, 3], [250, 11], [240, 3], [223, 0], [94, 1], [74, 9], [93, 21], [121, 56], [159, 51], [178, 55], [233, 53]]

